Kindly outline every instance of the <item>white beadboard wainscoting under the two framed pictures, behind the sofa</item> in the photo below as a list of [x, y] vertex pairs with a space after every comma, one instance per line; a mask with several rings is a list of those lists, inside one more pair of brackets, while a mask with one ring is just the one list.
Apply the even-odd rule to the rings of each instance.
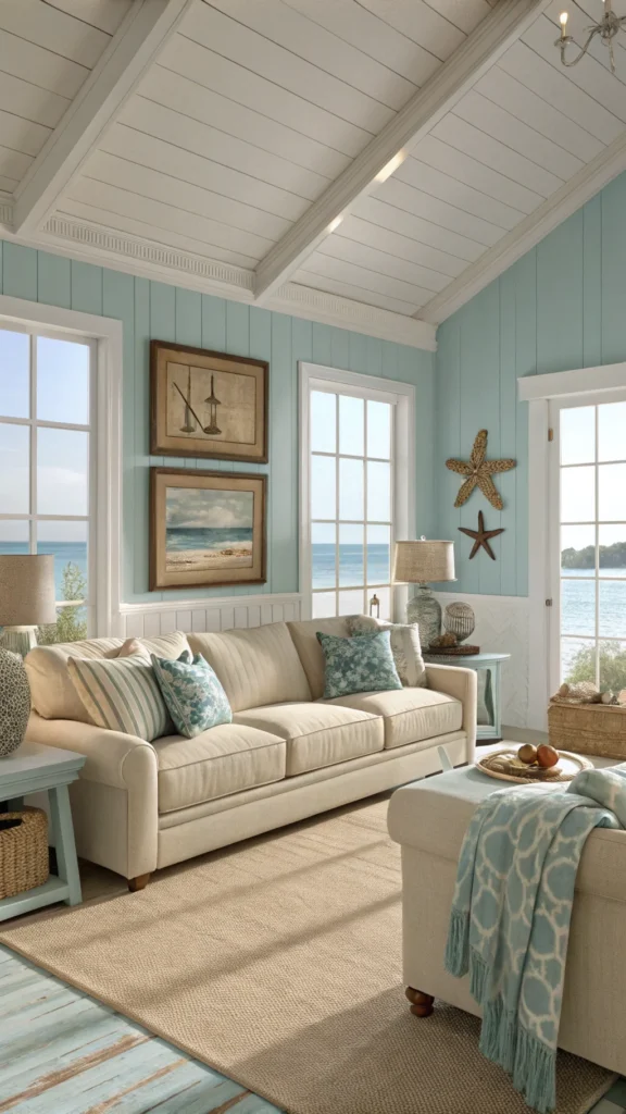
[[150, 604], [121, 604], [119, 634], [124, 638], [149, 638], [172, 631], [232, 631], [263, 623], [286, 623], [299, 619], [301, 614], [299, 593], [160, 599]]

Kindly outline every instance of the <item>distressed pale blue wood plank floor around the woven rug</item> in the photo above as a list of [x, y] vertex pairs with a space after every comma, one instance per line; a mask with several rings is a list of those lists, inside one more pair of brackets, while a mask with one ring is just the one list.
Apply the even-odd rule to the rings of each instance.
[[[620, 1081], [590, 1114], [625, 1114]], [[281, 1114], [0, 946], [0, 1114]]]

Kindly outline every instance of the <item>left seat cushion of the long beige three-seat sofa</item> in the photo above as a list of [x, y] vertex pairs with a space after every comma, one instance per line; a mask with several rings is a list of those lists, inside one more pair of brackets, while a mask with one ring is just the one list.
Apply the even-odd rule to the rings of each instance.
[[173, 812], [285, 776], [285, 742], [267, 731], [223, 723], [202, 735], [170, 735], [154, 744], [158, 810]]

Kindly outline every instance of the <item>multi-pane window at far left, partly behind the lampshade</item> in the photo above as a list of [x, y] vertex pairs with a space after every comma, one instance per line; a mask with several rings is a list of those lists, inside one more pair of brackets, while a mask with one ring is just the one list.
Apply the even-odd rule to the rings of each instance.
[[0, 323], [0, 554], [52, 554], [57, 623], [95, 631], [96, 342]]

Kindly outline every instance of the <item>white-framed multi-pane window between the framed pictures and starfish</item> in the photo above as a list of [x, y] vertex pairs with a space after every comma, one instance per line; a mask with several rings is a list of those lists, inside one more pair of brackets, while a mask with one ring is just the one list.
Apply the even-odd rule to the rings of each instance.
[[303, 364], [301, 402], [304, 610], [391, 618], [393, 543], [414, 528], [413, 388]]

